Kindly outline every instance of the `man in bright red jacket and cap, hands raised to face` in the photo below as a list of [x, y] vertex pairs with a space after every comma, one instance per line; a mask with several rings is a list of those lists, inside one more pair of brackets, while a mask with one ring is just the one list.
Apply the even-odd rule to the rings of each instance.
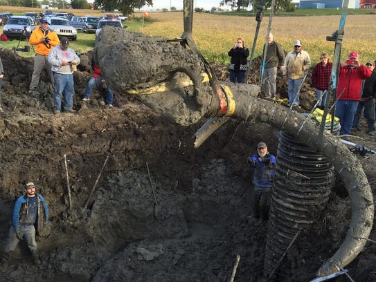
[[339, 66], [337, 104], [335, 115], [341, 124], [341, 135], [350, 134], [354, 115], [360, 101], [361, 82], [372, 75], [366, 66], [359, 63], [356, 52], [348, 55], [348, 60]]

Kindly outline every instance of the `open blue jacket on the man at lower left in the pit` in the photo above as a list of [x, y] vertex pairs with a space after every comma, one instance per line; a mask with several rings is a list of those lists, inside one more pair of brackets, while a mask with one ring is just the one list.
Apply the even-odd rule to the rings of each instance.
[[[48, 222], [48, 207], [46, 200], [43, 196], [35, 193], [35, 197], [38, 200], [38, 212], [37, 212], [37, 231], [44, 227], [44, 223]], [[21, 225], [23, 225], [26, 215], [28, 214], [27, 204], [28, 196], [26, 194], [22, 195], [16, 200], [15, 208], [13, 209], [12, 225], [17, 231]], [[46, 217], [44, 217], [46, 216]], [[46, 221], [44, 221], [46, 220]]]

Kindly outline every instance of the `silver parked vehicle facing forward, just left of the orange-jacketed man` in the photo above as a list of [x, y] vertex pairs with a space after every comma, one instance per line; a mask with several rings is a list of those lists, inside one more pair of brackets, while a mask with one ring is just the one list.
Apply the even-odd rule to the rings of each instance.
[[35, 30], [36, 23], [30, 17], [12, 16], [3, 27], [3, 34], [8, 39], [26, 39]]

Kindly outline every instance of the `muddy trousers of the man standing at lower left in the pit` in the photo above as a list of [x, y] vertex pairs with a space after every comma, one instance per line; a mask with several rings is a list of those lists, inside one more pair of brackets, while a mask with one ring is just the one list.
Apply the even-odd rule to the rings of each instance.
[[[19, 227], [20, 236], [28, 243], [28, 248], [33, 254], [37, 254], [37, 241], [35, 241], [35, 227], [34, 225], [21, 225]], [[6, 243], [6, 252], [14, 251], [19, 243], [19, 238], [16, 236], [15, 227], [10, 226], [8, 242]]]

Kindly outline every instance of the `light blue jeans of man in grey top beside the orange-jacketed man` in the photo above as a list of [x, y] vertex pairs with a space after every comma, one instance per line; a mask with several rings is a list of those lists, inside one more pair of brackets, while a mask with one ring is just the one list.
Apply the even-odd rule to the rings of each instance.
[[53, 92], [53, 111], [62, 110], [62, 98], [64, 111], [69, 111], [73, 108], [73, 74], [62, 75], [60, 73], [54, 73], [53, 80], [55, 81], [55, 91]]

